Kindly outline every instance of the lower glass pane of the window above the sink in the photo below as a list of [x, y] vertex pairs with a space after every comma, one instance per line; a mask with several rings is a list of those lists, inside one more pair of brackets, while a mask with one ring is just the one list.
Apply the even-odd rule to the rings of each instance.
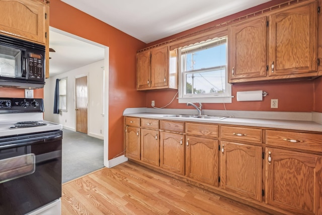
[[185, 94], [225, 93], [225, 68], [186, 74]]

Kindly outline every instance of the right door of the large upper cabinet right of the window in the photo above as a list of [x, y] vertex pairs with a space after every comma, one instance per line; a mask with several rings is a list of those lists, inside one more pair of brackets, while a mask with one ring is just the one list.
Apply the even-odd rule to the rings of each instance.
[[316, 71], [316, 10], [317, 5], [314, 2], [269, 17], [270, 76]]

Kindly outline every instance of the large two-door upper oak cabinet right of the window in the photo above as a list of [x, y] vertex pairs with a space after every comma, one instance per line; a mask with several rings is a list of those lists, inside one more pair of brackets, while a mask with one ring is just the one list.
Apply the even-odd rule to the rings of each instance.
[[229, 26], [228, 54], [229, 83], [318, 76], [317, 2]]

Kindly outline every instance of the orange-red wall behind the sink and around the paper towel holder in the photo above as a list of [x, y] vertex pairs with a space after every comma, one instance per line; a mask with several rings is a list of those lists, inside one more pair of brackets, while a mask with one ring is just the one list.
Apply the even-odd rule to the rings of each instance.
[[[181, 32], [179, 34], [167, 37], [152, 43], [147, 44], [148, 46], [158, 44], [170, 39], [175, 39], [180, 36], [188, 35], [193, 32], [200, 31], [202, 29], [207, 29], [209, 27], [215, 26], [220, 23], [224, 23], [229, 20], [233, 20], [238, 17], [251, 14], [274, 5], [287, 2], [285, 0], [281, 1], [271, 1], [263, 5], [248, 9], [237, 14], [215, 20], [213, 22], [207, 23], [202, 26], [190, 29], [188, 31]], [[321, 1], [319, 1], [320, 3]], [[322, 25], [322, 24], [320, 24]], [[320, 29], [320, 28], [319, 28]], [[315, 90], [314, 90], [315, 88]], [[263, 101], [253, 101], [253, 102], [237, 102], [236, 92], [238, 91], [252, 91], [252, 90], [263, 90], [268, 92], [268, 95], [263, 99]], [[151, 101], [155, 101], [156, 107], [162, 107], [168, 104], [174, 94], [177, 91], [153, 91], [147, 92], [146, 96], [146, 106], [150, 107]], [[267, 83], [267, 84], [246, 84], [246, 85], [232, 85], [232, 95], [235, 98], [232, 99], [231, 104], [225, 104], [227, 110], [250, 110], [250, 111], [318, 111], [322, 112], [322, 81], [317, 79], [314, 81], [297, 81], [297, 82], [285, 82], [285, 83]], [[270, 100], [278, 99], [278, 108], [270, 108]], [[315, 102], [315, 103], [314, 103]], [[179, 104], [178, 100], [168, 106], [168, 108], [191, 108], [187, 107], [185, 104]], [[217, 109], [223, 110], [223, 104], [203, 104], [204, 109]]]

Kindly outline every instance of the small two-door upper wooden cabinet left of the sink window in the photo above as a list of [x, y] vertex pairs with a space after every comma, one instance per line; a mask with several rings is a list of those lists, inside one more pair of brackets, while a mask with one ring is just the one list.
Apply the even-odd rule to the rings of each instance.
[[137, 54], [137, 90], [178, 89], [177, 54], [168, 46]]

